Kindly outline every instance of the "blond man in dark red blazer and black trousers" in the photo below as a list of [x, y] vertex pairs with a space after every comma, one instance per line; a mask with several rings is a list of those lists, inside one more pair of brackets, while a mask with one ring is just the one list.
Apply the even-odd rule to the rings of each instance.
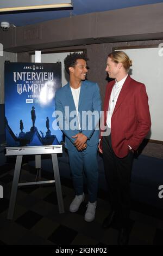
[[120, 228], [118, 245], [129, 239], [130, 177], [133, 153], [151, 127], [146, 87], [130, 78], [132, 66], [123, 51], [111, 52], [106, 63], [109, 78], [104, 100], [104, 126], [99, 151], [103, 153], [111, 211], [103, 222], [109, 228], [117, 222]]

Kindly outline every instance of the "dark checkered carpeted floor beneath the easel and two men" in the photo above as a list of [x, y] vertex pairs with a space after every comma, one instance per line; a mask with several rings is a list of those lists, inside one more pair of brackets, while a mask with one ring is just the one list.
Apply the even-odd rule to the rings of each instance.
[[[65, 213], [58, 211], [55, 185], [18, 188], [14, 218], [7, 219], [14, 163], [2, 165], [0, 184], [4, 198], [0, 199], [0, 245], [117, 245], [117, 227], [103, 230], [103, 219], [108, 215], [106, 192], [99, 190], [96, 219], [84, 221], [87, 194], [77, 213], [69, 212], [74, 192], [72, 182], [61, 177]], [[21, 182], [35, 181], [36, 170], [24, 163]], [[53, 174], [41, 171], [42, 178], [53, 179]], [[163, 199], [162, 199], [163, 200]], [[162, 245], [163, 210], [132, 201], [129, 245]]]

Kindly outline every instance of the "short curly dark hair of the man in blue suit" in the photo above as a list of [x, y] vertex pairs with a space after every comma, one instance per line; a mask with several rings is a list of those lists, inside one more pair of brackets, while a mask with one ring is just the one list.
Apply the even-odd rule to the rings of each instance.
[[77, 59], [84, 59], [84, 61], [87, 61], [86, 55], [78, 52], [70, 53], [70, 55], [67, 55], [64, 59], [65, 69], [68, 74], [70, 74], [68, 68], [76, 66]]

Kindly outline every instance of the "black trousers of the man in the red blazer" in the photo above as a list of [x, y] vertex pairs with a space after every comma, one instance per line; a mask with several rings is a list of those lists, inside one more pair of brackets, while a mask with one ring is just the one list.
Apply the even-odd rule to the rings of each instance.
[[103, 136], [103, 160], [111, 210], [118, 213], [119, 224], [126, 227], [130, 215], [133, 152], [130, 151], [124, 158], [118, 158], [112, 150], [111, 135]]

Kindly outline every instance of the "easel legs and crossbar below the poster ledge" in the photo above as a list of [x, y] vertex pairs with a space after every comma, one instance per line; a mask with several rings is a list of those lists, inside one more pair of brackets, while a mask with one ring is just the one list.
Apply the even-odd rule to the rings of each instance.
[[[13, 215], [14, 215], [17, 187], [18, 186], [33, 185], [33, 184], [45, 184], [45, 183], [54, 183], [55, 182], [59, 213], [64, 213], [64, 202], [63, 202], [63, 198], [62, 198], [57, 154], [53, 153], [51, 155], [52, 155], [52, 164], [53, 164], [53, 172], [54, 172], [54, 179], [55, 180], [35, 181], [35, 182], [26, 182], [26, 183], [18, 183], [19, 178], [20, 178], [20, 171], [21, 171], [22, 157], [23, 156], [22, 155], [16, 156], [14, 178], [13, 178], [13, 181], [12, 181], [12, 189], [11, 189], [9, 210], [8, 210], [8, 216], [7, 216], [8, 219], [12, 219]], [[41, 170], [41, 155], [35, 155], [35, 167], [36, 167], [36, 169]]]

